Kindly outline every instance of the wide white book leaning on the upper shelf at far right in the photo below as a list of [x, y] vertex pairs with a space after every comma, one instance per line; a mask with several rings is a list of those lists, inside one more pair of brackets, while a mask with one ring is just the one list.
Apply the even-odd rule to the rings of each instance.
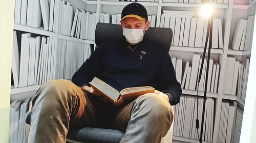
[[239, 50], [242, 41], [244, 27], [246, 25], [246, 19], [238, 19], [236, 29], [234, 31], [231, 48], [233, 50]]

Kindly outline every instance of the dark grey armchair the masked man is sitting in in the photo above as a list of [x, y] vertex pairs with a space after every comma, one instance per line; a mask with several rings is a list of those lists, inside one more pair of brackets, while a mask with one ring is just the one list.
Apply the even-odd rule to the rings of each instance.
[[[100, 45], [105, 40], [122, 39], [122, 28], [118, 24], [97, 23], [95, 31], [95, 43]], [[159, 43], [162, 48], [169, 51], [173, 32], [170, 28], [150, 27], [144, 36], [145, 39]], [[170, 61], [171, 62], [171, 61]], [[30, 118], [27, 118], [27, 123]], [[172, 142], [172, 127], [161, 142]], [[124, 132], [100, 128], [72, 128], [70, 127], [67, 142], [86, 143], [117, 143], [120, 142]]]

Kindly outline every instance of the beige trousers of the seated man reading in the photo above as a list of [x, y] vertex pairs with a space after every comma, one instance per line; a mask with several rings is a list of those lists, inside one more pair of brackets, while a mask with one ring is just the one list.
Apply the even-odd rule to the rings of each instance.
[[70, 126], [124, 131], [121, 142], [160, 142], [173, 122], [173, 106], [145, 94], [122, 108], [99, 101], [73, 82], [51, 80], [32, 102], [29, 142], [66, 142]]

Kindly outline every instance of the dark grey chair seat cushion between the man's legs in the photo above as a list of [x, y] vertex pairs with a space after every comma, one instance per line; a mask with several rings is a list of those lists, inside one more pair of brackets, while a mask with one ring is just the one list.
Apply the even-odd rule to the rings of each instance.
[[124, 132], [101, 128], [70, 128], [68, 139], [89, 143], [115, 143], [120, 142]]

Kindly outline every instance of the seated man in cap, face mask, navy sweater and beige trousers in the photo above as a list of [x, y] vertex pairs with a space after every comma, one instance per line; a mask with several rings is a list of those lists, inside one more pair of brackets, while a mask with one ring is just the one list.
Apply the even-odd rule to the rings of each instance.
[[[41, 85], [33, 99], [29, 142], [66, 142], [69, 127], [100, 127], [124, 131], [121, 142], [160, 142], [173, 121], [180, 83], [167, 52], [143, 40], [150, 26], [146, 9], [131, 3], [121, 16], [124, 38], [105, 41], [69, 80]], [[144, 94], [116, 108], [89, 85], [98, 77], [120, 91], [150, 85]]]

